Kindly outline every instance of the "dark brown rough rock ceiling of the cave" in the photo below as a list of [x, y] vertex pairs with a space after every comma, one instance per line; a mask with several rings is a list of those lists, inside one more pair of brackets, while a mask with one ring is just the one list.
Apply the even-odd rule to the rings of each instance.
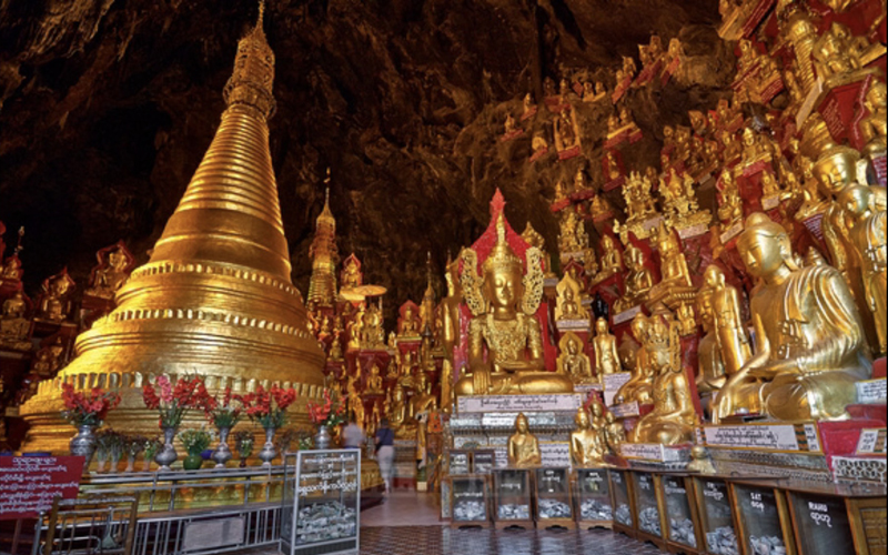
[[[637, 59], [652, 32], [679, 37], [685, 78], [628, 99], [645, 132], [628, 165], [656, 164], [663, 125], [726, 93], [717, 3], [270, 0], [271, 147], [294, 282], [306, 290], [326, 167], [340, 249], [391, 289], [390, 304], [418, 300], [427, 250], [440, 273], [447, 250], [478, 235], [495, 186], [513, 226], [529, 219], [554, 248], [545, 199], [584, 159], [529, 164], [529, 135], [497, 140], [505, 114], [528, 90], [539, 98], [542, 77], [585, 70], [613, 87], [620, 57]], [[29, 290], [64, 265], [82, 283], [118, 239], [147, 260], [216, 129], [255, 13], [252, 0], [0, 1], [0, 220], [26, 226]], [[609, 109], [581, 114], [593, 181]]]

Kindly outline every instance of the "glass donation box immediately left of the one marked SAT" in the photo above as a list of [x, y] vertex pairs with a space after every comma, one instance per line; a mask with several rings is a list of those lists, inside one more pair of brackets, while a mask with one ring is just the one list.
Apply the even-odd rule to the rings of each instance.
[[700, 515], [704, 553], [739, 555], [728, 484], [720, 478], [695, 476], [694, 496]]

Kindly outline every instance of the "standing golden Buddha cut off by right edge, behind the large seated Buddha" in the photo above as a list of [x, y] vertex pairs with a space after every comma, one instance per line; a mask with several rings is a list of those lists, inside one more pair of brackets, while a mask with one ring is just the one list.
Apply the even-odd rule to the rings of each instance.
[[874, 210], [872, 189], [862, 185], [850, 185], [839, 195], [838, 202], [851, 221], [851, 246], [862, 270], [864, 295], [869, 311], [872, 313], [878, 337], [878, 353], [886, 349], [886, 311], [885, 295], [888, 289], [886, 272], [886, 216], [885, 210]]

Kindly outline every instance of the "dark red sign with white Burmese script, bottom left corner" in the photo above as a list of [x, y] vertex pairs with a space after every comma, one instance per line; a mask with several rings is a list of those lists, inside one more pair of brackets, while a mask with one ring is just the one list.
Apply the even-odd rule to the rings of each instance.
[[0, 519], [32, 518], [77, 497], [82, 456], [0, 456]]

